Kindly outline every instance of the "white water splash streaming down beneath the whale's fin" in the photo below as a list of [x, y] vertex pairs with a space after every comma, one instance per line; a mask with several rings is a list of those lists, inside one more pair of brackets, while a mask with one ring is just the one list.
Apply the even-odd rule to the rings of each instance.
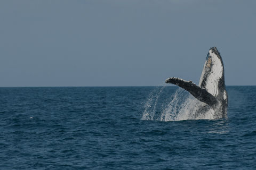
[[[181, 121], [214, 119], [214, 111], [205, 103], [197, 100], [187, 91], [178, 88], [171, 97], [167, 97], [159, 106], [166, 86], [154, 89], [145, 104], [141, 120]], [[162, 96], [161, 96], [162, 95]]]

